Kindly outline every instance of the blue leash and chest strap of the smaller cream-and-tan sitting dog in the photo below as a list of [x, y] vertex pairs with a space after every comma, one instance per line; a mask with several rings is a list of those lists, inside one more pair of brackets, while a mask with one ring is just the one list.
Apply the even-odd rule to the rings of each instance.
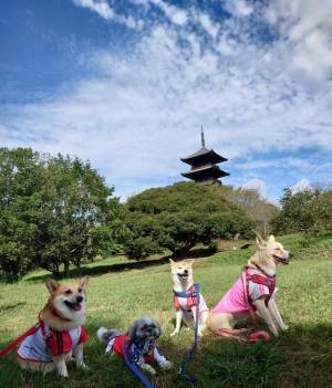
[[196, 308], [196, 324], [195, 324], [195, 342], [191, 347], [191, 349], [186, 354], [184, 357], [183, 364], [180, 365], [177, 377], [184, 379], [185, 381], [189, 382], [191, 386], [195, 386], [196, 384], [196, 377], [194, 375], [189, 375], [186, 373], [187, 366], [191, 357], [194, 356], [196, 349], [197, 349], [197, 344], [198, 344], [198, 321], [199, 321], [199, 284], [195, 283], [194, 284], [195, 291], [193, 293], [187, 293], [187, 292], [175, 292], [176, 296], [179, 297], [197, 297], [197, 308]]

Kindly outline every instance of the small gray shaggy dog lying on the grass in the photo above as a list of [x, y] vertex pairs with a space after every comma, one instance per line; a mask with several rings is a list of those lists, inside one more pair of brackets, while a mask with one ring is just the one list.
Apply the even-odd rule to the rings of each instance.
[[143, 370], [156, 374], [151, 364], [156, 361], [163, 369], [172, 368], [172, 363], [159, 354], [156, 340], [162, 334], [159, 324], [152, 318], [141, 318], [135, 321], [127, 334], [117, 329], [100, 327], [97, 337], [102, 343], [107, 344], [106, 355], [124, 356], [127, 352], [131, 361]]

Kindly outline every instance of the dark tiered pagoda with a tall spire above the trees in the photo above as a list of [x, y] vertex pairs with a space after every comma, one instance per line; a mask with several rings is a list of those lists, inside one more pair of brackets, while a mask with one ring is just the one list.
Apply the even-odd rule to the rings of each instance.
[[207, 149], [205, 147], [204, 130], [201, 127], [201, 148], [195, 154], [181, 158], [181, 161], [191, 166], [188, 172], [181, 172], [181, 176], [188, 179], [195, 180], [199, 185], [209, 185], [214, 182], [221, 183], [218, 178], [227, 177], [229, 172], [226, 172], [217, 166], [219, 162], [227, 161], [224, 156], [214, 151], [214, 149]]

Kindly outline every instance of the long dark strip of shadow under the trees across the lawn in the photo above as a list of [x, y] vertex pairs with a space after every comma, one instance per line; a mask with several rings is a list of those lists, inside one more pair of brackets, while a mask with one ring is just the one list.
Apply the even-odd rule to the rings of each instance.
[[[169, 259], [174, 260], [184, 260], [184, 259], [200, 259], [200, 258], [207, 258], [212, 255], [214, 252], [209, 249], [193, 249], [188, 252], [188, 254], [183, 255], [183, 256], [174, 256], [174, 255], [167, 255], [162, 259], [155, 259], [155, 260], [142, 260], [142, 261], [129, 261], [126, 263], [116, 263], [116, 264], [110, 264], [110, 265], [103, 265], [103, 262], [101, 261], [101, 265], [95, 265], [95, 266], [82, 266], [80, 269], [71, 269], [69, 271], [68, 276], [64, 276], [64, 274], [61, 274], [60, 279], [65, 279], [65, 277], [79, 277], [79, 276], [84, 276], [84, 275], [102, 275], [105, 273], [112, 273], [112, 272], [123, 272], [123, 271], [129, 271], [129, 270], [142, 270], [145, 268], [154, 266], [154, 265], [163, 265], [167, 264], [169, 262]], [[51, 274], [45, 274], [45, 275], [37, 275], [37, 276], [31, 276], [27, 279], [27, 282], [42, 282], [45, 281], [48, 277], [50, 277]]]

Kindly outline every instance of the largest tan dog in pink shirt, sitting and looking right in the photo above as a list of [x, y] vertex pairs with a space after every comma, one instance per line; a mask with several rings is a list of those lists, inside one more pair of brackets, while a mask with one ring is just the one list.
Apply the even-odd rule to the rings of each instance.
[[232, 336], [239, 321], [249, 315], [255, 318], [256, 314], [266, 321], [274, 336], [278, 336], [279, 329], [288, 328], [273, 296], [277, 268], [280, 263], [288, 264], [291, 254], [273, 235], [264, 241], [257, 234], [257, 245], [258, 251], [249, 259], [242, 275], [211, 310], [208, 326], [219, 335]]

